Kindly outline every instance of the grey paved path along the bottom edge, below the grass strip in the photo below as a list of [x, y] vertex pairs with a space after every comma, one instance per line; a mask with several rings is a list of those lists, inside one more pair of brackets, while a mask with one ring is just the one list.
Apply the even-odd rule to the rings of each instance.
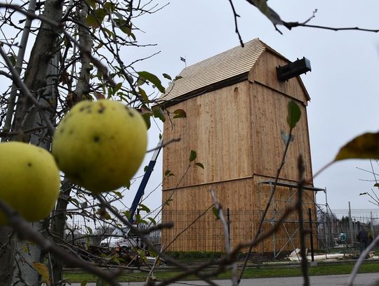
[[[349, 275], [324, 275], [311, 276], [311, 286], [334, 286], [346, 285]], [[220, 286], [230, 286], [230, 280], [215, 280]], [[255, 278], [241, 280], [240, 286], [302, 286], [302, 277], [284, 277], [284, 278]], [[376, 283], [375, 283], [376, 282]], [[142, 286], [143, 282], [123, 282], [123, 286]], [[87, 286], [95, 286], [95, 283], [88, 283]], [[173, 286], [204, 286], [208, 285], [202, 281], [182, 281], [171, 284]], [[379, 286], [379, 265], [378, 273], [361, 273], [354, 280], [354, 286]], [[80, 286], [79, 283], [73, 283], [72, 286]]]

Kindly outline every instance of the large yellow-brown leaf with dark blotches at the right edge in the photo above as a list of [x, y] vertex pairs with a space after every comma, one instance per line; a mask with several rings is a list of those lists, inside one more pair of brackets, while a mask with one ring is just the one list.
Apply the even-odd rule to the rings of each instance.
[[340, 148], [334, 161], [345, 159], [379, 160], [379, 132], [361, 134]]

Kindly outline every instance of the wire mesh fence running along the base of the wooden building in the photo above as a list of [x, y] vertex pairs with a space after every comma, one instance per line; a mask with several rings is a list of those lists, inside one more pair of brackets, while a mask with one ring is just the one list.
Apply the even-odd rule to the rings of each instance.
[[[279, 221], [282, 213], [268, 212], [262, 223], [262, 233], [277, 226], [277, 232], [253, 248], [249, 257], [252, 263], [262, 261], [298, 261], [300, 233], [298, 214], [286, 216]], [[226, 230], [215, 217], [212, 209], [206, 211], [173, 211], [145, 213], [140, 212], [138, 228], [147, 228], [153, 223], [174, 223], [173, 228], [154, 231], [148, 235], [154, 245], [173, 258], [189, 264], [197, 264], [217, 259], [224, 254], [225, 237], [232, 247], [253, 240], [258, 229], [262, 212], [246, 212], [225, 209]], [[305, 209], [304, 223], [306, 247], [315, 260], [346, 259], [359, 255], [357, 235], [365, 229], [368, 236], [379, 235], [379, 209]], [[103, 240], [112, 238], [115, 229], [124, 229], [121, 223], [98, 215], [75, 214], [67, 220], [66, 240], [78, 244], [101, 245]], [[113, 234], [112, 234], [113, 233]], [[226, 234], [225, 234], [226, 233]], [[128, 231], [118, 237], [127, 237]], [[129, 238], [138, 240], [138, 238]], [[368, 238], [369, 242], [370, 238]], [[106, 246], [106, 245], [105, 245]], [[371, 254], [378, 255], [378, 248]], [[246, 254], [241, 253], [240, 259]]]

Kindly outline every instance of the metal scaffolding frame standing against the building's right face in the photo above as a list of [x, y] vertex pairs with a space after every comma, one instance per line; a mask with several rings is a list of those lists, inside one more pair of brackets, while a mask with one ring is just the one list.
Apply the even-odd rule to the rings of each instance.
[[[279, 216], [281, 216], [281, 214], [283, 214], [283, 212], [285, 212], [285, 209], [288, 205], [290, 205], [291, 203], [293, 203], [293, 197], [296, 195], [296, 190], [298, 190], [298, 185], [296, 183], [288, 183], [288, 182], [284, 182], [284, 181], [277, 181], [277, 183], [275, 183], [274, 180], [265, 180], [265, 181], [260, 181], [258, 182], [258, 208], [261, 210], [262, 212], [262, 209], [265, 207], [262, 205], [262, 195], [263, 195], [263, 192], [267, 192], [267, 190], [264, 190], [263, 186], [270, 186], [270, 194], [273, 193], [274, 191], [274, 186], [278, 187], [282, 187], [284, 188], [284, 190], [288, 190], [288, 196], [281, 196], [281, 197], [277, 197], [276, 195], [274, 195], [272, 197], [272, 201], [270, 202], [271, 206], [272, 206], [272, 209], [271, 209], [271, 212], [270, 213], [270, 217], [267, 217], [266, 219], [263, 220], [264, 223], [270, 223], [271, 225], [274, 225], [274, 223], [277, 223], [279, 221]], [[328, 212], [328, 200], [327, 200], [327, 195], [326, 195], [326, 188], [316, 188], [316, 187], [313, 187], [313, 186], [303, 186], [302, 187], [303, 190], [310, 190], [313, 192], [313, 197], [312, 197], [312, 200], [310, 200], [310, 202], [302, 202], [303, 204], [303, 207], [304, 209], [313, 209], [314, 210], [314, 213], [315, 213], [315, 216], [316, 216], [316, 219], [314, 220], [314, 223], [316, 223], [316, 226], [319, 225], [319, 223], [324, 223], [324, 222], [320, 222], [318, 221], [318, 217], [317, 217], [317, 209], [321, 210], [320, 208], [320, 205], [318, 205], [316, 203], [316, 195], [318, 192], [324, 192], [325, 194], [325, 204], [322, 204], [326, 207], [326, 212]], [[308, 195], [309, 197], [309, 195]], [[324, 212], [324, 211], [322, 211]], [[274, 233], [272, 235], [272, 249], [273, 249], [273, 255], [274, 255], [274, 259], [277, 259], [277, 257], [279, 256], [279, 254], [281, 254], [281, 252], [283, 252], [283, 250], [288, 246], [288, 245], [291, 245], [292, 249], [296, 249], [297, 247], [295, 247], [294, 243], [293, 243], [293, 238], [295, 237], [296, 233], [298, 233], [298, 230], [299, 228], [296, 227], [296, 228], [291, 228], [291, 230], [288, 230], [287, 226], [286, 226], [286, 223], [298, 223], [298, 220], [297, 219], [286, 219], [284, 221], [281, 221], [281, 224], [284, 228], [284, 232], [286, 233], [286, 236], [287, 236], [287, 240], [286, 242], [284, 243], [284, 245], [282, 245], [279, 249], [277, 249], [277, 242], [276, 242], [276, 234]], [[327, 226], [326, 226], [326, 229]]]

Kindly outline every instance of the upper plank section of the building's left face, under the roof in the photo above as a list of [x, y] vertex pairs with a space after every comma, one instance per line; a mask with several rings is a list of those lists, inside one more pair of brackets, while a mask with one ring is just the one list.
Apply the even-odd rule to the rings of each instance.
[[[164, 140], [181, 141], [164, 148], [164, 170], [175, 176], [164, 180], [163, 189], [175, 188], [185, 174], [191, 150], [204, 170], [190, 168], [180, 186], [228, 181], [251, 176], [251, 117], [249, 84], [241, 82], [205, 93], [169, 108], [183, 109], [186, 119], [166, 120]], [[192, 207], [189, 205], [188, 207]]]

